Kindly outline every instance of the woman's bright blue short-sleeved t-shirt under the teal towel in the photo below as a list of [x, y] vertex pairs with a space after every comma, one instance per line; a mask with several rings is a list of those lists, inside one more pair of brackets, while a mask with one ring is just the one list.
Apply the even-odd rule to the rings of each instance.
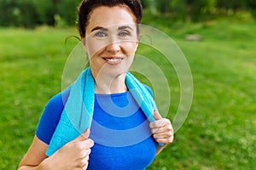
[[[55, 95], [44, 108], [36, 135], [46, 144], [55, 132], [69, 92], [67, 88]], [[95, 94], [90, 127], [90, 139], [95, 144], [87, 169], [142, 170], [148, 167], [156, 151], [148, 123], [130, 92]]]

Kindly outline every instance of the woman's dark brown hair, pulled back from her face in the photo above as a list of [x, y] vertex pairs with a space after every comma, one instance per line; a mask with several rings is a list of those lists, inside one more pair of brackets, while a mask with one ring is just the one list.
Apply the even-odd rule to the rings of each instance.
[[143, 6], [140, 0], [83, 0], [79, 5], [78, 10], [78, 29], [80, 37], [85, 37], [85, 27], [88, 25], [90, 12], [94, 8], [100, 6], [114, 7], [118, 5], [126, 5], [129, 7], [137, 18], [137, 24], [141, 24]]

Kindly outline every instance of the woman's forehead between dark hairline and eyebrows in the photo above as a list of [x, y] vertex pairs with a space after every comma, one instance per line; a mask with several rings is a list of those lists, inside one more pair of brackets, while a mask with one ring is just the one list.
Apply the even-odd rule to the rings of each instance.
[[125, 5], [101, 6], [91, 11], [89, 22], [85, 29], [86, 32], [90, 32], [96, 26], [109, 27], [136, 24], [136, 20], [136, 16], [131, 12], [131, 9]]

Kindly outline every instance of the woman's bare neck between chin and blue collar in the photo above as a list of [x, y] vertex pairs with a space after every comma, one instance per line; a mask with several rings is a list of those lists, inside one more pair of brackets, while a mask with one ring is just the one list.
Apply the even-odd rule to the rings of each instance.
[[95, 77], [96, 94], [119, 94], [127, 91], [125, 85], [126, 73], [111, 77], [104, 74]]

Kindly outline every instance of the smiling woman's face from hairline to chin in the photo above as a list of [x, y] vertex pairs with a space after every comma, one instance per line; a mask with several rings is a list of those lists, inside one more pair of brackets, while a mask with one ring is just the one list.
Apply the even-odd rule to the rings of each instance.
[[85, 31], [82, 41], [94, 77], [116, 77], [128, 71], [138, 44], [136, 17], [128, 7], [94, 8]]

